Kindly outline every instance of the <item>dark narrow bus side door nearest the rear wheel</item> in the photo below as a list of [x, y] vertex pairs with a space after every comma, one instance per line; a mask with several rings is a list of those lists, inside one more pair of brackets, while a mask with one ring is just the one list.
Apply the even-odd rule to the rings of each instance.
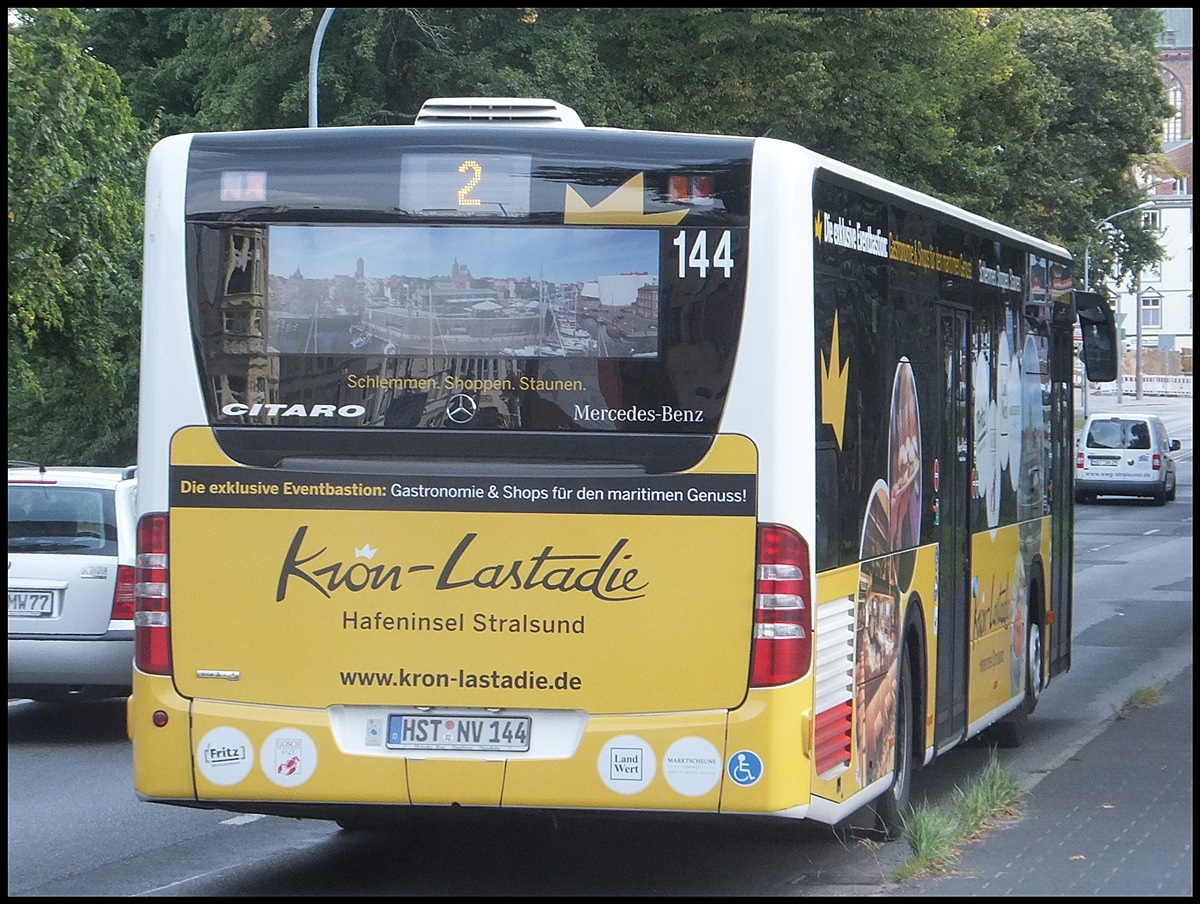
[[971, 490], [971, 322], [966, 311], [938, 309], [942, 435], [934, 479], [937, 569], [937, 699], [934, 743], [952, 747], [967, 725], [971, 648], [968, 579]]

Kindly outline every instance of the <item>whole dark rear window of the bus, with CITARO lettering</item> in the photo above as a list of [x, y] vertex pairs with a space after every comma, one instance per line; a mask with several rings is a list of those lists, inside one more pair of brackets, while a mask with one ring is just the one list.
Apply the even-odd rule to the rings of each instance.
[[192, 223], [210, 423], [713, 435], [745, 245], [745, 228]]

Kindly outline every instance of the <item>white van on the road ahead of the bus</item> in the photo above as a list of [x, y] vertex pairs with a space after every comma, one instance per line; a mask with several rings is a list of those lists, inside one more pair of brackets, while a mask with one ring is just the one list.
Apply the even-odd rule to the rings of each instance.
[[1154, 414], [1092, 414], [1075, 439], [1075, 502], [1097, 496], [1148, 496], [1156, 505], [1175, 499], [1171, 439]]

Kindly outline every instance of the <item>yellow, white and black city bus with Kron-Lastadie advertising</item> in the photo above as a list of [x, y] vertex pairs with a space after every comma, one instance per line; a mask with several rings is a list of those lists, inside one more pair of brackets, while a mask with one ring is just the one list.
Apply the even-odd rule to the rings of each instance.
[[139, 797], [894, 836], [1020, 742], [1076, 316], [1115, 376], [1068, 253], [784, 140], [431, 104], [150, 157]]

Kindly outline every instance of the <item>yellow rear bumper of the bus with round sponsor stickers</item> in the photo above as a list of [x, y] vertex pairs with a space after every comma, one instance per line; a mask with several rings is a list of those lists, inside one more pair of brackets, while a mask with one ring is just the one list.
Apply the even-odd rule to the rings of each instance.
[[803, 731], [766, 706], [790, 689], [751, 692], [732, 712], [530, 711], [529, 752], [487, 752], [390, 748], [386, 708], [187, 701], [169, 678], [134, 683], [134, 789], [152, 802], [338, 820], [456, 806], [796, 819], [809, 804]]

